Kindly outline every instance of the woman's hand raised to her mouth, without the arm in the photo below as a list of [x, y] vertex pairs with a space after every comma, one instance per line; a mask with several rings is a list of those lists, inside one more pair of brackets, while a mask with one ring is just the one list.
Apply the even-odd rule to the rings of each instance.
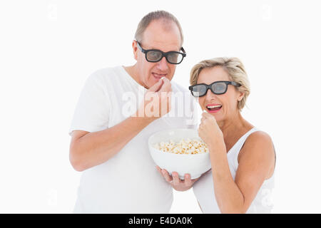
[[215, 117], [209, 113], [202, 113], [198, 135], [209, 147], [224, 142], [223, 133], [218, 127]]

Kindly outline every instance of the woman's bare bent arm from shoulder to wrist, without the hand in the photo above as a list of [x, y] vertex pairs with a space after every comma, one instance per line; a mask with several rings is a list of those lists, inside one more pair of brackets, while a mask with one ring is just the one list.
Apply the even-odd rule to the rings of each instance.
[[210, 154], [215, 198], [222, 213], [245, 213], [264, 180], [275, 165], [275, 153], [270, 136], [256, 132], [248, 137], [240, 150], [235, 180], [230, 173], [225, 145], [216, 145]]

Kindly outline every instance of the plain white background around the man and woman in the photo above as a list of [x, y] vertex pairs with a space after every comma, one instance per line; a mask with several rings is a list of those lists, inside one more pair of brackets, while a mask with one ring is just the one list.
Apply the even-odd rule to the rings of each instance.
[[[320, 213], [319, 1], [1, 1], [0, 212], [70, 213], [81, 173], [68, 161], [68, 128], [90, 73], [135, 63], [140, 19], [164, 9], [183, 27], [195, 63], [237, 56], [251, 83], [244, 117], [277, 151], [275, 213]], [[193, 191], [171, 212], [200, 213]]]

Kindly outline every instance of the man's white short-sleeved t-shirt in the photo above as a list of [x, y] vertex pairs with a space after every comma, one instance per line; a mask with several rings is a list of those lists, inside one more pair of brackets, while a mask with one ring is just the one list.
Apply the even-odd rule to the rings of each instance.
[[[173, 81], [171, 85], [173, 93], [189, 93]], [[122, 66], [96, 71], [88, 77], [81, 91], [69, 134], [73, 130], [96, 132], [112, 128], [136, 112], [145, 92], [146, 88], [136, 83]], [[172, 117], [186, 102], [182, 99], [185, 98], [172, 98], [170, 113], [144, 128], [110, 160], [83, 171], [73, 212], [169, 212], [173, 202], [172, 187], [156, 170], [148, 150], [148, 138], [169, 128], [195, 128], [188, 118], [193, 118], [193, 105], [184, 107], [185, 115]]]

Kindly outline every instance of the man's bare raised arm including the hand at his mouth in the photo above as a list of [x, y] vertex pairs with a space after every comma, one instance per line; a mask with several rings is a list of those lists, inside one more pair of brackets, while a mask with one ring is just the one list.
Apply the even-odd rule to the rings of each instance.
[[[170, 81], [168, 79], [160, 80], [152, 86], [148, 93], [169, 93], [171, 91]], [[147, 94], [147, 93], [146, 93]], [[146, 95], [148, 97], [148, 95]], [[152, 96], [153, 97], [153, 96]], [[158, 98], [158, 99], [157, 99]], [[170, 100], [167, 96], [159, 96], [154, 100], [145, 100], [136, 115], [133, 115], [118, 125], [101, 130], [95, 133], [88, 133], [83, 130], [74, 130], [71, 138], [69, 150], [69, 160], [73, 168], [77, 171], [87, 170], [96, 165], [101, 165], [111, 157], [116, 155], [131, 139], [146, 128], [153, 120], [160, 118], [170, 111]], [[148, 102], [146, 102], [148, 101]], [[143, 115], [146, 105], [149, 102], [158, 103], [158, 115]], [[161, 105], [166, 103], [167, 105]], [[153, 105], [152, 105], [153, 106]], [[143, 109], [143, 112], [142, 112]], [[148, 117], [149, 116], [149, 117]]]

